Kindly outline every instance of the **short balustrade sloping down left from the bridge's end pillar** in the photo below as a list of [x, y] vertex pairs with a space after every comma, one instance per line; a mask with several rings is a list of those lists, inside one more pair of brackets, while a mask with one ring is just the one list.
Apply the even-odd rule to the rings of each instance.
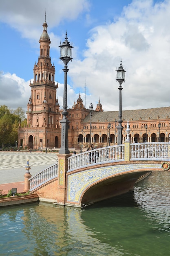
[[38, 174], [31, 177], [30, 180], [30, 190], [37, 189], [42, 184], [53, 180], [58, 176], [58, 163], [49, 166], [48, 168], [40, 171]]

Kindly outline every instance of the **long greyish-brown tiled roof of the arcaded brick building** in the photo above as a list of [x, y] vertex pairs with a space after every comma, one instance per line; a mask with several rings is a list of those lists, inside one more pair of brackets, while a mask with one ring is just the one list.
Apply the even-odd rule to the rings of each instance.
[[[92, 122], [113, 122], [119, 119], [119, 111], [92, 112]], [[123, 110], [123, 121], [142, 121], [142, 120], [159, 120], [170, 118], [170, 107], [163, 108], [147, 108], [137, 110]], [[90, 114], [85, 117], [83, 123], [90, 122]]]

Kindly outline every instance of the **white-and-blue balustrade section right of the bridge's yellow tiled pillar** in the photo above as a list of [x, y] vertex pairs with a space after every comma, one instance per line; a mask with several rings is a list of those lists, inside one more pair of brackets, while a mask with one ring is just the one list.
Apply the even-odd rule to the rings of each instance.
[[169, 159], [169, 143], [164, 142], [146, 142], [146, 143], [133, 143], [131, 146], [131, 159]]

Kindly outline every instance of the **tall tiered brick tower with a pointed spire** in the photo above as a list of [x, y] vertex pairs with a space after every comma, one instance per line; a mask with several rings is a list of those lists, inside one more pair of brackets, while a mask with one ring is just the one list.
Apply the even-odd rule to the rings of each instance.
[[27, 127], [19, 128], [20, 146], [29, 148], [60, 147], [59, 104], [56, 98], [55, 67], [51, 64], [50, 38], [46, 15], [40, 36], [40, 56], [33, 68], [31, 97], [27, 104]]

